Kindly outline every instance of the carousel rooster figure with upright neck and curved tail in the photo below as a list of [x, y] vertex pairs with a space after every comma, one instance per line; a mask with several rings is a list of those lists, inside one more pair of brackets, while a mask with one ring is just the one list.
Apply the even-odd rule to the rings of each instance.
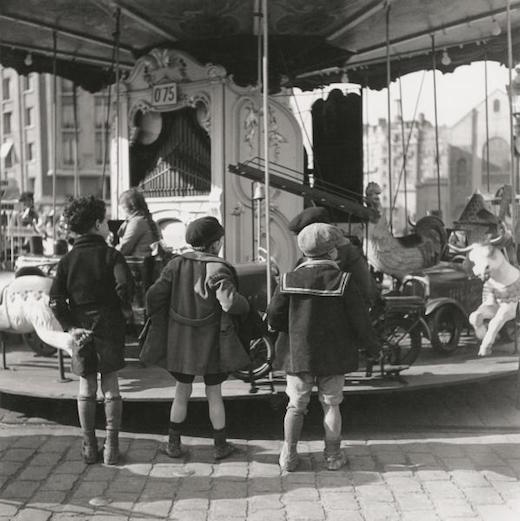
[[415, 224], [414, 233], [394, 237], [389, 230], [377, 183], [368, 183], [365, 201], [371, 211], [368, 221], [367, 257], [377, 270], [402, 279], [405, 275], [437, 264], [447, 244], [442, 221], [426, 216]]

